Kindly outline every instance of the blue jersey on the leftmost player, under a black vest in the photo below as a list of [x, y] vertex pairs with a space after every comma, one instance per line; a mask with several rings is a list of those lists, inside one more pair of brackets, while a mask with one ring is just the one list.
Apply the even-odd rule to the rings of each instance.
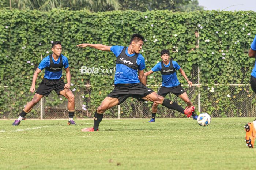
[[[61, 55], [62, 56], [62, 64], [64, 68], [68, 68], [68, 58]], [[52, 58], [52, 61], [54, 64], [59, 64], [60, 63], [60, 57], [58, 58], [57, 61], [55, 61]], [[39, 64], [38, 68], [43, 70], [46, 67], [50, 66], [50, 56], [45, 57], [41, 63]], [[48, 70], [45, 70], [45, 75], [44, 78], [49, 79], [49, 80], [55, 80], [55, 79], [60, 79], [62, 77], [62, 70], [58, 71], [58, 72], [50, 72]]]

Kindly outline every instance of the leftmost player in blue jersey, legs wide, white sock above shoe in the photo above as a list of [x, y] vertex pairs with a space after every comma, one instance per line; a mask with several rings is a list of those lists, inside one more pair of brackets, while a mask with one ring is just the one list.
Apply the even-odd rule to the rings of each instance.
[[[68, 58], [61, 54], [62, 46], [60, 41], [52, 43], [52, 54], [45, 57], [39, 64], [37, 70], [33, 75], [32, 85], [30, 87], [30, 92], [34, 93], [35, 91], [35, 82], [39, 73], [45, 68], [45, 75], [40, 83], [33, 99], [26, 104], [25, 108], [20, 113], [20, 116], [17, 120], [13, 122], [12, 125], [18, 126], [22, 119], [29, 113], [32, 108], [41, 100], [42, 97], [48, 96], [51, 91], [55, 90], [57, 95], [63, 95], [68, 99], [68, 124], [74, 124], [73, 120], [74, 111], [75, 111], [75, 99], [70, 87], [70, 70], [68, 65]], [[64, 83], [62, 77], [62, 67], [65, 68], [67, 84]]]

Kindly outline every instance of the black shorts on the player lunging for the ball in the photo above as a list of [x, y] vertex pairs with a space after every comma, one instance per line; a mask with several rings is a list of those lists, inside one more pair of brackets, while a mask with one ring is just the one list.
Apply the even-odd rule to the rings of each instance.
[[148, 88], [142, 83], [134, 84], [116, 84], [108, 97], [117, 98], [119, 105], [123, 103], [128, 97], [133, 97], [139, 101], [145, 101], [141, 98], [153, 93], [154, 90]]

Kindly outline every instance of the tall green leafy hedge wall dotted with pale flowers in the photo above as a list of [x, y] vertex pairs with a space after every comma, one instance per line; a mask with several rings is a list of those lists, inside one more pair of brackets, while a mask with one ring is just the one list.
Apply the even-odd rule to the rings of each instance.
[[[256, 33], [255, 20], [256, 14], [252, 11], [89, 13], [69, 10], [1, 10], [0, 114], [9, 112], [10, 106], [12, 112], [18, 114], [31, 99], [29, 90], [32, 75], [41, 61], [41, 54], [46, 57], [47, 51], [50, 52], [51, 41], [57, 40], [63, 43], [63, 54], [69, 59], [74, 84], [72, 88], [79, 90], [86, 84], [92, 85], [90, 94], [86, 94], [86, 98], [90, 97], [90, 112], [94, 112], [112, 90], [114, 77], [80, 74], [80, 68], [82, 65], [114, 68], [115, 57], [110, 52], [75, 47], [82, 42], [109, 46], [128, 45], [131, 34], [141, 33], [147, 40], [142, 52], [146, 60], [146, 71], [159, 61], [161, 49], [170, 49], [176, 51], [171, 56], [188, 76], [191, 75], [192, 67], [200, 66], [201, 84], [248, 84], [255, 62], [247, 54]], [[195, 31], [199, 32], [199, 38], [195, 36]], [[199, 48], [196, 48], [197, 39]], [[41, 82], [40, 77], [43, 77], [43, 73], [39, 76], [37, 85]], [[179, 78], [181, 83], [186, 84], [181, 75]], [[194, 81], [196, 80], [197, 77], [194, 77]], [[148, 78], [147, 84], [161, 84], [160, 74]], [[225, 98], [228, 91], [229, 87], [223, 86], [214, 93], [222, 101], [218, 106], [220, 109], [230, 105], [230, 101]], [[216, 108], [211, 103], [217, 102], [207, 98], [208, 91], [201, 92], [208, 112], [213, 112]], [[57, 96], [55, 99], [48, 105], [63, 102]], [[151, 107], [151, 104], [148, 106]], [[223, 111], [220, 116], [225, 114]]]

